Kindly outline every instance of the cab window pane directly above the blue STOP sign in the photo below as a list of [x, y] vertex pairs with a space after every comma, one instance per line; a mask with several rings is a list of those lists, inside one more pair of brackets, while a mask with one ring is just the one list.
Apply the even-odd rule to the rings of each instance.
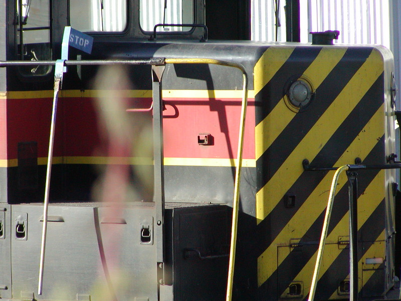
[[70, 0], [70, 24], [82, 32], [122, 32], [127, 26], [127, 1]]

